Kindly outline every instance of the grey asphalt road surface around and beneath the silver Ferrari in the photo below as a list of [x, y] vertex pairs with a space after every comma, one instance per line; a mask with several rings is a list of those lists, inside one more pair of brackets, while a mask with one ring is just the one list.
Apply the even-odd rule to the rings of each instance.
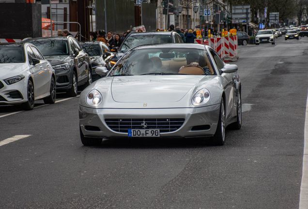
[[57, 94], [32, 111], [0, 105], [0, 143], [23, 135], [0, 146], [0, 209], [298, 208], [307, 46], [307, 37], [280, 37], [238, 47], [243, 125], [221, 147], [200, 139], [85, 147], [78, 98]]

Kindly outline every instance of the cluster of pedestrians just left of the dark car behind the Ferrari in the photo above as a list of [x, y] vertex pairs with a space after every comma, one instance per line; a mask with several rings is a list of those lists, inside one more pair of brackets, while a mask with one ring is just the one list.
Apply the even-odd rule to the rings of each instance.
[[[126, 32], [127, 33], [127, 32]], [[105, 30], [99, 30], [98, 32], [91, 32], [90, 36], [92, 41], [101, 41], [109, 46], [110, 49], [113, 47], [119, 47], [122, 43], [122, 39], [119, 34], [115, 34], [114, 37], [112, 35], [112, 31], [107, 32]]]

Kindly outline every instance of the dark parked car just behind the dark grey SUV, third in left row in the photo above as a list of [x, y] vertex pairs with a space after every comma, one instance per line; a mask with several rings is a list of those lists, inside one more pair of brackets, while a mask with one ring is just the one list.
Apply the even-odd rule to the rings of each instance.
[[108, 45], [101, 41], [84, 41], [79, 42], [85, 52], [88, 53], [92, 66], [92, 81], [96, 81], [103, 77], [95, 73], [97, 67], [108, 67], [108, 63], [113, 57], [113, 53], [110, 51]]

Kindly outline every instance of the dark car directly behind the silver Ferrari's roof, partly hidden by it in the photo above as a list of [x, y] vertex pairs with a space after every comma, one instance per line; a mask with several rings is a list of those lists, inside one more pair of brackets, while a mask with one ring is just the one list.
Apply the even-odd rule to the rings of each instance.
[[125, 54], [131, 48], [139, 45], [166, 43], [184, 42], [181, 36], [175, 31], [130, 33], [119, 48], [112, 48], [112, 50], [117, 53], [111, 58], [108, 64], [108, 70], [110, 70], [113, 65], [123, 56], [123, 54]]

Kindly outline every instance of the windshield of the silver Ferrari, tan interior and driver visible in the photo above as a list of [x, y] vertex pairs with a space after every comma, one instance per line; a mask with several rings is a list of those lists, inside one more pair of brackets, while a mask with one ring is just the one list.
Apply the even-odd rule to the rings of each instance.
[[216, 75], [209, 60], [202, 49], [137, 49], [125, 54], [108, 76]]

